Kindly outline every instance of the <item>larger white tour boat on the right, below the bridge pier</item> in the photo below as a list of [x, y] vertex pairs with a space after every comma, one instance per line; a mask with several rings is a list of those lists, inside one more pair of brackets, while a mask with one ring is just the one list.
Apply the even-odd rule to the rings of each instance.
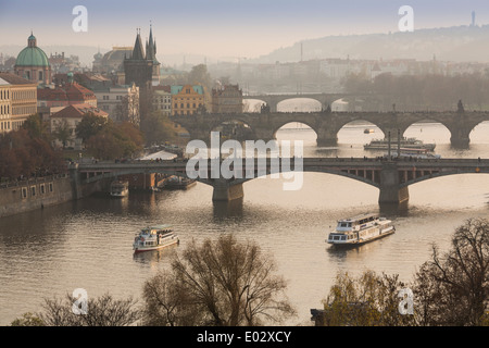
[[361, 246], [394, 232], [396, 227], [390, 220], [376, 214], [362, 214], [338, 221], [336, 229], [329, 233], [327, 243], [338, 247]]

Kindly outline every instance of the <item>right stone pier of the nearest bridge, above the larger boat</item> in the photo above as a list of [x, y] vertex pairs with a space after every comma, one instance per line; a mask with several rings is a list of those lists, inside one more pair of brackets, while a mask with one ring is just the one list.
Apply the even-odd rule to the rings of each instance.
[[379, 204], [399, 204], [410, 199], [408, 186], [400, 186], [397, 164], [387, 162], [380, 172]]

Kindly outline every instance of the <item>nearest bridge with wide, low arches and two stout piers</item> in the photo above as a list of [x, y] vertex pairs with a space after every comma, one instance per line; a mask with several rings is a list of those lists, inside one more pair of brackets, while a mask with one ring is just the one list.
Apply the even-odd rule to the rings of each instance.
[[[294, 171], [294, 158], [266, 159], [264, 173], [285, 173]], [[231, 178], [212, 178], [211, 160], [205, 160], [209, 169], [206, 177], [197, 179], [214, 188], [213, 200], [229, 201], [243, 196], [242, 184], [264, 173], [260, 159], [250, 166], [235, 173]], [[287, 161], [288, 165], [284, 165]], [[423, 181], [456, 174], [474, 175], [489, 173], [489, 160], [438, 159], [438, 160], [379, 160], [365, 158], [303, 158], [302, 172], [316, 172], [340, 175], [360, 181], [379, 189], [379, 203], [400, 203], [409, 200], [408, 187]], [[187, 161], [130, 161], [127, 163], [99, 162], [75, 163], [70, 165], [71, 176], [76, 185], [92, 183], [106, 178], [116, 178], [127, 174], [162, 173], [187, 177]], [[247, 172], [248, 171], [248, 172]]]

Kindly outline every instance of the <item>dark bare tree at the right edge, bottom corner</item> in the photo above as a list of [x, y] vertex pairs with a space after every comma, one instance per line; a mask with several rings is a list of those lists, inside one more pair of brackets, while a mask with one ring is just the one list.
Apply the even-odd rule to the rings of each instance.
[[415, 304], [421, 325], [481, 325], [489, 299], [489, 221], [471, 219], [452, 237], [452, 248], [416, 274]]

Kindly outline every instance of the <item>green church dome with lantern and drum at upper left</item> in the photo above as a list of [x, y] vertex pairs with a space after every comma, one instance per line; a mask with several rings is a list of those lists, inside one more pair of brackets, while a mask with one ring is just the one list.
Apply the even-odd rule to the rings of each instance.
[[17, 55], [14, 65], [15, 74], [38, 85], [51, 84], [51, 65], [39, 47], [36, 37], [30, 34], [27, 39], [27, 47]]

